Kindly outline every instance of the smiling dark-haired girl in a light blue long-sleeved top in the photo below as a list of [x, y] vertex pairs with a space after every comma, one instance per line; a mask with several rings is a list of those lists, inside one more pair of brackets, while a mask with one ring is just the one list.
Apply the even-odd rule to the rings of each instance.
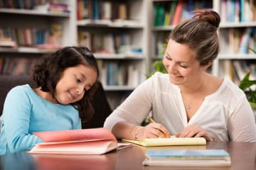
[[1, 115], [0, 154], [28, 151], [41, 139], [33, 132], [81, 128], [93, 108], [99, 69], [86, 47], [63, 47], [33, 69], [37, 88], [16, 86], [6, 96]]

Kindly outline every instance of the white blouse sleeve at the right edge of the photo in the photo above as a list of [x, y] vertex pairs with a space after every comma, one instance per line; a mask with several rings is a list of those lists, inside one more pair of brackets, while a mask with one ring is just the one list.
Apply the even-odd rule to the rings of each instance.
[[235, 111], [228, 118], [230, 141], [256, 142], [255, 116], [250, 103], [243, 97]]

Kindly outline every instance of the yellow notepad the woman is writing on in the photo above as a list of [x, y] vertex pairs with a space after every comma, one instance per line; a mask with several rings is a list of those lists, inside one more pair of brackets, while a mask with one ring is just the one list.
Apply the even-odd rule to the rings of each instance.
[[131, 142], [144, 147], [154, 146], [176, 146], [176, 145], [206, 145], [206, 139], [204, 137], [168, 137], [168, 138], [145, 138], [142, 141], [139, 140], [125, 140], [125, 142]]

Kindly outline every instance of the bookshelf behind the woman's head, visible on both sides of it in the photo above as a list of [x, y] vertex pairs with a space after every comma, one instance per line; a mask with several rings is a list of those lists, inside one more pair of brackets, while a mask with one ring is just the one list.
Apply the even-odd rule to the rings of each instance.
[[209, 72], [236, 84], [247, 72], [252, 73], [251, 79], [256, 79], [256, 55], [248, 50], [248, 47], [256, 49], [256, 4], [252, 0], [151, 0], [150, 63], [161, 60], [164, 55], [166, 39], [176, 25], [174, 18], [179, 3], [183, 4], [179, 21], [188, 18], [188, 11], [196, 9], [213, 9], [220, 14], [220, 54]]

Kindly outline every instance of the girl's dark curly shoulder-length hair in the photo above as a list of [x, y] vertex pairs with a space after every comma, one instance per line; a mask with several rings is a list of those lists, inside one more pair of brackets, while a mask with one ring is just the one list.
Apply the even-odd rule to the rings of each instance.
[[[41, 91], [54, 94], [55, 87], [63, 71], [68, 67], [75, 67], [79, 64], [94, 68], [97, 72], [97, 77], [99, 77], [97, 61], [87, 47], [63, 47], [43, 56], [41, 61], [33, 68], [32, 77], [33, 80], [36, 81], [37, 86], [41, 87]], [[97, 83], [95, 83], [90, 90], [86, 91], [80, 101], [71, 103], [78, 109], [82, 122], [90, 120], [94, 114], [91, 98], [96, 90]]]

